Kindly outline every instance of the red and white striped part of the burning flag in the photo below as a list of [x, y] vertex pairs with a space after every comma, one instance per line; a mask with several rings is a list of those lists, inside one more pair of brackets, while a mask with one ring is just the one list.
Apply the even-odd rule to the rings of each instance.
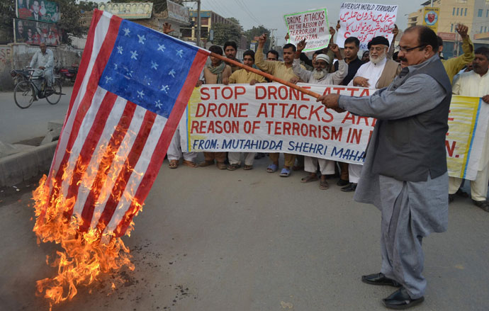
[[[109, 13], [94, 12], [46, 183], [51, 198], [75, 199], [66, 216], [81, 215], [80, 231], [97, 227], [118, 237], [125, 234], [150, 191], [208, 56], [204, 50], [197, 53], [167, 120], [98, 86], [120, 21]], [[106, 154], [103, 161], [102, 154]], [[52, 180], [60, 185], [59, 191]]]

